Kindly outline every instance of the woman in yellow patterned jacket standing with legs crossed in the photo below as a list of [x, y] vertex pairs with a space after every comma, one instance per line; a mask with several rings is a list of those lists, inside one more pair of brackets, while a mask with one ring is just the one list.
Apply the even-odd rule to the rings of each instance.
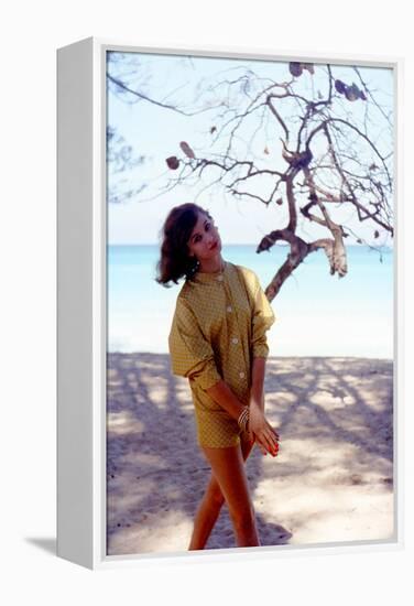
[[187, 377], [198, 444], [211, 477], [196, 513], [189, 550], [204, 549], [225, 500], [237, 544], [259, 545], [244, 462], [254, 442], [277, 455], [264, 416], [265, 332], [274, 315], [257, 275], [221, 258], [207, 210], [183, 204], [163, 228], [157, 282], [185, 278], [168, 337], [172, 370]]

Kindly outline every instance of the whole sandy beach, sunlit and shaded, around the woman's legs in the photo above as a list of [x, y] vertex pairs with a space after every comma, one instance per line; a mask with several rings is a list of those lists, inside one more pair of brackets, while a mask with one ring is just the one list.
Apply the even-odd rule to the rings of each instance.
[[[280, 455], [254, 447], [247, 474], [262, 545], [393, 535], [393, 366], [363, 358], [269, 358], [266, 416]], [[209, 478], [187, 380], [167, 355], [108, 355], [108, 555], [184, 552]], [[235, 548], [226, 507], [206, 549]]]

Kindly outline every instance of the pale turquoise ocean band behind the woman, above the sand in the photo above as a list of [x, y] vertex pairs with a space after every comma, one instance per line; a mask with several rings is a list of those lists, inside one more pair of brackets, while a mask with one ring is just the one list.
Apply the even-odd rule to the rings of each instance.
[[[393, 358], [393, 250], [348, 247], [348, 274], [329, 273], [324, 251], [309, 255], [283, 284], [272, 306], [271, 356]], [[263, 288], [284, 262], [287, 247], [255, 252], [254, 245], [222, 248], [226, 261], [252, 269]], [[167, 353], [181, 283], [155, 282], [156, 245], [107, 248], [108, 351]]]

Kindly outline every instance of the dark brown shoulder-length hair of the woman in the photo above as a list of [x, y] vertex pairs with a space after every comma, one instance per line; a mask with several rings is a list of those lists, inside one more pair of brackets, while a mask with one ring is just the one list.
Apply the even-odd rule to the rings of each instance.
[[198, 220], [198, 215], [211, 216], [197, 204], [182, 204], [170, 210], [162, 229], [161, 259], [156, 266], [156, 281], [163, 286], [178, 283], [179, 278], [190, 278], [198, 269], [198, 261], [188, 256], [187, 242]]

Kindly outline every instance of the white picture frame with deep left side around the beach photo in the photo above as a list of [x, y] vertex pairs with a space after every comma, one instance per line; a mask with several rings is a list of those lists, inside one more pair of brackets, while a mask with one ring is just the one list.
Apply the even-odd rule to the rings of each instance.
[[399, 232], [402, 204], [401, 58], [292, 55], [249, 48], [160, 48], [89, 37], [57, 51], [57, 554], [96, 570], [159, 558], [246, 558], [240, 549], [107, 555], [106, 549], [106, 53], [186, 54], [388, 67], [395, 93], [394, 264], [394, 535], [389, 541], [336, 545], [283, 545], [250, 550], [254, 558], [401, 549], [402, 510], [402, 301]]

